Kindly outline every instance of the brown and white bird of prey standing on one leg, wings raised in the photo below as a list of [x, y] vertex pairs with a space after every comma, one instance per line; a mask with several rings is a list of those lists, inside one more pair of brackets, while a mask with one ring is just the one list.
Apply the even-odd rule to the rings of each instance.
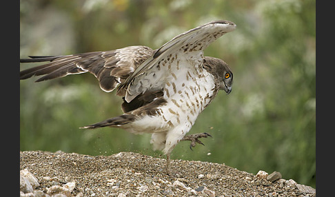
[[152, 50], [135, 45], [110, 51], [85, 52], [62, 56], [29, 56], [21, 63], [49, 63], [20, 72], [20, 79], [40, 76], [37, 81], [90, 72], [101, 89], [123, 98], [123, 114], [81, 127], [119, 127], [134, 134], [150, 133], [154, 149], [167, 156], [180, 141], [191, 141], [191, 148], [209, 134], [185, 135], [199, 114], [219, 90], [232, 91], [233, 74], [225, 61], [204, 56], [203, 50], [236, 25], [212, 21], [183, 32], [161, 48]]

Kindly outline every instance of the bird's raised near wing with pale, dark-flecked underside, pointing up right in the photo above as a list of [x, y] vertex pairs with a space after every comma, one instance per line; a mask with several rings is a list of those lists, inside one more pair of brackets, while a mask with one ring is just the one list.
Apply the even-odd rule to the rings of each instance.
[[[212, 41], [231, 32], [235, 27], [236, 25], [230, 21], [212, 21], [179, 34], [156, 50], [130, 74], [119, 86], [117, 94], [125, 95], [125, 101], [129, 103], [147, 91], [161, 90], [171, 79], [171, 74], [180, 71], [180, 67], [183, 67], [183, 70], [202, 69], [203, 50]], [[183, 65], [179, 65], [179, 61], [183, 62]], [[176, 79], [176, 76], [174, 78]]]

